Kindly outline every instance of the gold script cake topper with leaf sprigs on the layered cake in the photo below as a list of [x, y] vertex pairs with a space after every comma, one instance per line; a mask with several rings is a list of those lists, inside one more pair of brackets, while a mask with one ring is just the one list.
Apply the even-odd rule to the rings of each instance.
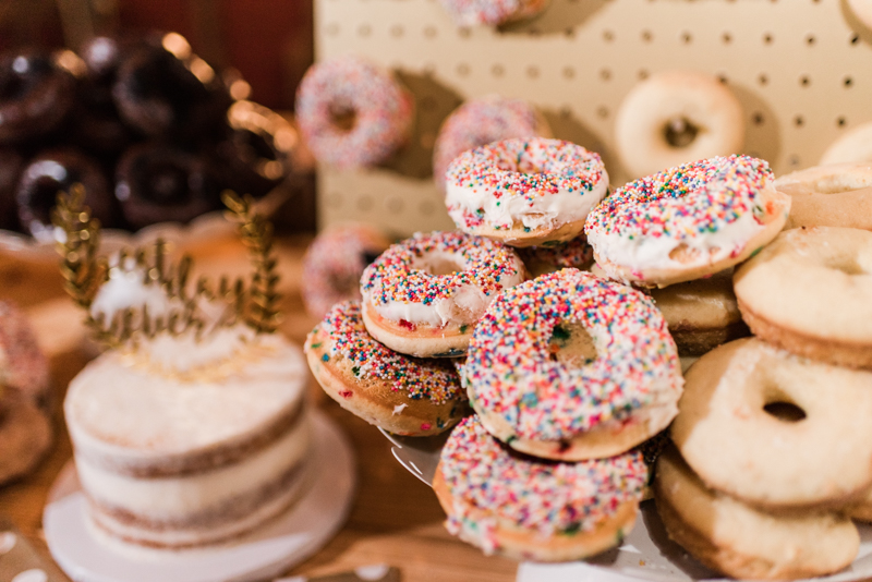
[[[225, 191], [221, 199], [228, 207], [228, 217], [237, 223], [242, 242], [249, 248], [254, 272], [246, 287], [242, 278], [232, 282], [221, 277], [217, 287], [204, 276], [199, 277], [193, 292], [189, 289], [192, 259], [182, 256], [177, 265], [167, 260], [167, 243], [158, 239], [150, 248], [122, 250], [117, 263], [110, 265], [98, 256], [100, 225], [84, 205], [85, 191], [74, 184], [70, 193], [59, 193], [52, 213], [52, 222], [63, 231], [58, 243], [61, 254], [61, 274], [64, 289], [85, 310], [85, 324], [95, 338], [109, 348], [135, 344], [141, 337], [154, 338], [168, 332], [178, 336], [194, 330], [199, 339], [207, 329], [199, 305], [222, 302], [226, 306], [211, 329], [229, 327], [239, 322], [257, 334], [271, 334], [278, 327], [280, 314], [277, 292], [279, 276], [272, 256], [272, 226], [253, 209], [251, 196], [240, 197]], [[120, 310], [106, 320], [106, 314], [92, 312], [92, 304], [100, 287], [110, 279], [112, 269], [143, 274], [143, 284], [159, 286], [175, 307], [167, 314], [152, 314], [147, 304]]]

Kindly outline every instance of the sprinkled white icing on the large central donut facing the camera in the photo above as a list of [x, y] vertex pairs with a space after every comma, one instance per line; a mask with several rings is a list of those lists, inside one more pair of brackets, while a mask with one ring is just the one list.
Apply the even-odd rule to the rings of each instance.
[[[581, 324], [597, 357], [567, 367], [550, 357], [555, 327]], [[479, 322], [465, 364], [470, 399], [498, 414], [516, 435], [566, 440], [622, 421], [652, 401], [679, 393], [675, 341], [653, 302], [632, 288], [564, 269], [507, 290]]]

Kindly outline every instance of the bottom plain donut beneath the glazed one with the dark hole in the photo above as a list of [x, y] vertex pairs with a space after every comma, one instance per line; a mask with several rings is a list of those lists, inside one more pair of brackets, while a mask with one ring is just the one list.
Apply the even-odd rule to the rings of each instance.
[[767, 513], [708, 489], [674, 447], [657, 462], [654, 496], [669, 537], [708, 568], [737, 580], [836, 572], [860, 546], [857, 528], [844, 516]]

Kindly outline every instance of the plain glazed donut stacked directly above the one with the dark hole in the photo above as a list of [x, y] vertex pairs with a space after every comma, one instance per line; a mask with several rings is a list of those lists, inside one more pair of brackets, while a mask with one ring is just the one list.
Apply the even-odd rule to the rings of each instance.
[[790, 352], [872, 368], [872, 232], [818, 227], [783, 232], [736, 270], [751, 331]]

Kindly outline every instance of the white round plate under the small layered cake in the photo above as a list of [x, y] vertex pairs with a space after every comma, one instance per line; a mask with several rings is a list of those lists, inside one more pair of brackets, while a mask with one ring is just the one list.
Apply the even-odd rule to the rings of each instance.
[[275, 578], [320, 549], [342, 526], [356, 484], [354, 457], [336, 424], [312, 412], [310, 486], [282, 516], [222, 546], [141, 548], [106, 537], [90, 524], [72, 461], [43, 513], [52, 557], [75, 582], [247, 582]]

